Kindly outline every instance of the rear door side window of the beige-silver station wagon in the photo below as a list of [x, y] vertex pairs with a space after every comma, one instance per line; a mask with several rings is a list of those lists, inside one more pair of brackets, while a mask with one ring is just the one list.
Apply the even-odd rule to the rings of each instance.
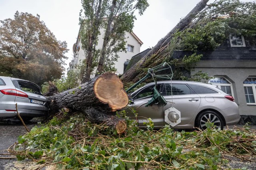
[[163, 93], [163, 96], [171, 95], [185, 95], [191, 94], [190, 88], [186, 84], [165, 84], [166, 92]]

